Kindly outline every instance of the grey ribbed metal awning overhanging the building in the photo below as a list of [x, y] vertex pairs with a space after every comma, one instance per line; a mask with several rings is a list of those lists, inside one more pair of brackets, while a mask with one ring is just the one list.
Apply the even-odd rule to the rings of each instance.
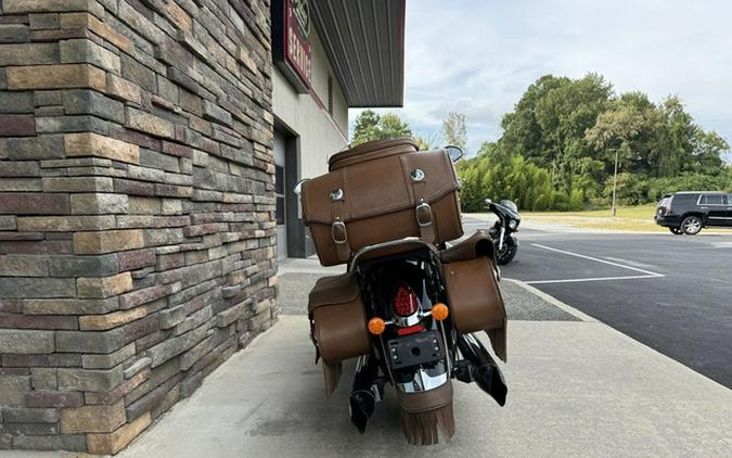
[[310, 0], [348, 106], [403, 105], [404, 1]]

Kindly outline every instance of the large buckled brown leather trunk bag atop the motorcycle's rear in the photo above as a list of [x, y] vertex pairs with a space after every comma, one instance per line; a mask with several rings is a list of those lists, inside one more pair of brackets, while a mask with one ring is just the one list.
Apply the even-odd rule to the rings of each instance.
[[335, 154], [329, 174], [303, 183], [303, 214], [323, 266], [367, 245], [462, 236], [458, 178], [446, 151], [411, 140], [378, 140]]

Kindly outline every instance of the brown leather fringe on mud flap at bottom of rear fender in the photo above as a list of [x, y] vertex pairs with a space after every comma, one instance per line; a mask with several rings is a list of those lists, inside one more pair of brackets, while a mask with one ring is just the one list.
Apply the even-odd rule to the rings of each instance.
[[452, 400], [444, 407], [423, 412], [409, 412], [403, 408], [399, 411], [404, 436], [412, 445], [435, 445], [439, 443], [439, 431], [441, 431], [442, 437], [450, 442], [455, 433]]

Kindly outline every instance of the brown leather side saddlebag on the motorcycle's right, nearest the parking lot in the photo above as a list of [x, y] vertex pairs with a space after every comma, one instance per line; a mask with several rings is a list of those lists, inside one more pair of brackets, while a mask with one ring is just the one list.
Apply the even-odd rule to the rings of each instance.
[[505, 361], [508, 318], [492, 256], [492, 241], [478, 231], [441, 253], [442, 272], [455, 329], [486, 331], [496, 355]]

